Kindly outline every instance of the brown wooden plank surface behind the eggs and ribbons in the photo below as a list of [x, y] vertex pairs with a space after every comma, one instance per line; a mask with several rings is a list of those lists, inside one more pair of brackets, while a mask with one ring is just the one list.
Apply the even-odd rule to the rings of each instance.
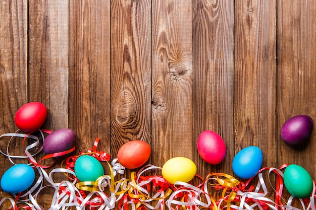
[[[234, 156], [257, 146], [262, 168], [298, 164], [316, 178], [315, 132], [298, 147], [280, 136], [292, 116], [316, 120], [316, 1], [3, 0], [0, 23], [0, 134], [15, 132], [16, 111], [38, 101], [43, 129], [77, 134], [73, 155], [100, 138], [98, 150], [114, 159], [140, 139], [151, 146], [147, 163], [186, 157], [205, 178], [234, 176]], [[223, 138], [222, 163], [199, 156], [203, 130]], [[0, 140], [6, 151], [9, 138]], [[21, 138], [9, 149], [23, 155]], [[2, 176], [13, 164], [1, 155], [0, 166]], [[39, 195], [45, 209], [53, 193]]]

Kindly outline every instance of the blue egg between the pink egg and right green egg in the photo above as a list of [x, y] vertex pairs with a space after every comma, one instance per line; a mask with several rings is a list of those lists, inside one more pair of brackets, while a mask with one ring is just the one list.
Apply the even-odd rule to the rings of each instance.
[[250, 146], [242, 149], [233, 160], [233, 171], [242, 179], [255, 176], [262, 165], [262, 152], [258, 147]]

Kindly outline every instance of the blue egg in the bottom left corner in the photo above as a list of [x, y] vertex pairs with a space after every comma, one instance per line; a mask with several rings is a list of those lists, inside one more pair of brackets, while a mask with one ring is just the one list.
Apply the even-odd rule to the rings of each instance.
[[1, 188], [9, 193], [23, 192], [35, 179], [34, 169], [26, 164], [17, 164], [9, 168], [1, 178]]

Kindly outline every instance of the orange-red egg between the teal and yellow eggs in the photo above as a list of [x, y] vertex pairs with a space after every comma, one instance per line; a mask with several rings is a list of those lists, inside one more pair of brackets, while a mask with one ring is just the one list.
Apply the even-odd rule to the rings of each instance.
[[150, 157], [150, 146], [141, 141], [133, 140], [125, 143], [118, 152], [119, 163], [128, 169], [135, 169], [147, 162]]

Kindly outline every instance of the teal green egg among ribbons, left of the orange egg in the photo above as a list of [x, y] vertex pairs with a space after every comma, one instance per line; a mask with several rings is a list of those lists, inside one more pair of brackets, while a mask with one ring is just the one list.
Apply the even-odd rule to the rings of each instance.
[[104, 169], [96, 158], [83, 155], [75, 162], [75, 174], [81, 182], [94, 182], [97, 178], [104, 175]]

